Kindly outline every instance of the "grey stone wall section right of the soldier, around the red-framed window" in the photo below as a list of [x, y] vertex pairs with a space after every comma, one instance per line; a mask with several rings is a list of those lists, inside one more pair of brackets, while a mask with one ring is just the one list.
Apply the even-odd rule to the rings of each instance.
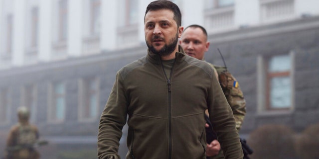
[[[219, 48], [231, 73], [239, 81], [247, 102], [247, 115], [241, 133], [249, 133], [264, 124], [284, 124], [297, 132], [319, 122], [318, 42], [319, 17], [282, 24], [242, 29], [209, 35], [211, 46], [206, 60], [223, 66]], [[274, 30], [274, 28], [276, 28]], [[262, 35], [261, 35], [262, 34]], [[293, 102], [288, 111], [265, 111], [258, 100], [263, 91], [258, 59], [293, 53]], [[264, 96], [262, 98], [265, 98]], [[263, 100], [265, 101], [265, 99]]]

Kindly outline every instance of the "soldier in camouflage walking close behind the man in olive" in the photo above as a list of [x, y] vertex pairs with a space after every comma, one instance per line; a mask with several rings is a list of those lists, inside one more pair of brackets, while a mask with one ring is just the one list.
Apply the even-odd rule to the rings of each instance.
[[[204, 60], [204, 54], [209, 48], [205, 28], [200, 25], [190, 25], [186, 27], [182, 33], [179, 44], [182, 46], [187, 55], [198, 60]], [[236, 129], [239, 131], [246, 114], [246, 102], [238, 81], [228, 72], [227, 68], [215, 66], [210, 63], [208, 64], [215, 70], [215, 75], [220, 82], [230, 107], [232, 108], [236, 121]], [[206, 155], [207, 159], [224, 159], [217, 140], [207, 144]]]

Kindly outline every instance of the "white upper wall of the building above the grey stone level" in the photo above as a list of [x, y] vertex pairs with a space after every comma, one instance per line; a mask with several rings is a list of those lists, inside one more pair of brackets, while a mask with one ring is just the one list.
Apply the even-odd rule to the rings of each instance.
[[[100, 0], [98, 34], [90, 32], [90, 0], [67, 0], [67, 31], [65, 40], [59, 36], [59, 1], [61, 0], [0, 0], [0, 54], [6, 53], [6, 16], [12, 14], [12, 56], [1, 56], [0, 69], [9, 69], [41, 62], [145, 46], [144, 14], [152, 0], [135, 0], [133, 12], [126, 13], [130, 0]], [[216, 0], [173, 0], [182, 12], [182, 25], [200, 24], [209, 33], [263, 26], [302, 16], [318, 15], [316, 0], [234, 0], [230, 6], [215, 6]], [[37, 46], [30, 47], [31, 9], [38, 8]], [[123, 10], [124, 9], [124, 10]], [[131, 22], [130, 13], [136, 15]], [[17, 38], [19, 37], [19, 38]], [[34, 53], [30, 55], [30, 52]]]

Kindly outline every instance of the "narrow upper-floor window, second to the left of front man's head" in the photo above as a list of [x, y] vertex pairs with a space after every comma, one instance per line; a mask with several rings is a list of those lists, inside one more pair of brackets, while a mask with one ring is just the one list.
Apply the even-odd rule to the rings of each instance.
[[91, 34], [100, 33], [100, 19], [101, 19], [101, 0], [91, 0]]

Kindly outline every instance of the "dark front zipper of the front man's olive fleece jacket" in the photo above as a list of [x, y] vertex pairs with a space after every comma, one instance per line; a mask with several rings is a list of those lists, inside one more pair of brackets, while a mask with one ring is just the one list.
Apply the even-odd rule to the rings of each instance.
[[171, 159], [171, 83], [170, 81], [171, 81], [175, 61], [176, 59], [174, 60], [174, 63], [170, 69], [169, 79], [166, 76], [163, 63], [161, 63], [165, 78], [167, 80], [167, 91], [168, 91], [168, 159]]

